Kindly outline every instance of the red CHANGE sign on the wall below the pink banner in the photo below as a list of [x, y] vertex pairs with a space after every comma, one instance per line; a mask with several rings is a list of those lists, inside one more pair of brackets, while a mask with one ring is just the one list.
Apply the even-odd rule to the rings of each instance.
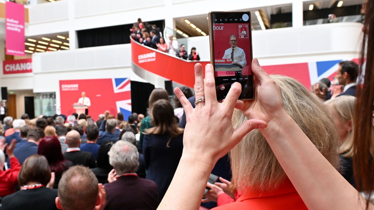
[[32, 59], [3, 61], [3, 74], [19, 74], [33, 72]]

